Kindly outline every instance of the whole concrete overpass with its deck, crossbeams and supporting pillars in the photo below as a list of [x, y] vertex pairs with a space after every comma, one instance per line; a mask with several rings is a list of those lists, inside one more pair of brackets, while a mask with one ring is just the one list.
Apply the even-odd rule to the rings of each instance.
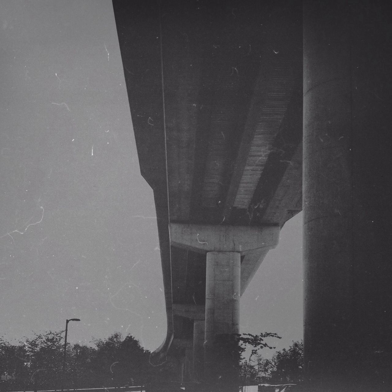
[[354, 391], [382, 374], [390, 387], [386, 10], [113, 4], [162, 258], [167, 337], [151, 363], [175, 358], [184, 381], [209, 371], [211, 343], [238, 332], [241, 294], [303, 205], [308, 385]]

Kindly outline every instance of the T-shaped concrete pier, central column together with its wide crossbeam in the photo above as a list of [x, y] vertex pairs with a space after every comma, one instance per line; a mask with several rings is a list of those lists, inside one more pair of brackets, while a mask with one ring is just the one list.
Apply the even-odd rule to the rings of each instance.
[[[279, 227], [229, 225], [193, 225], [170, 223], [172, 246], [207, 255], [205, 336], [201, 343], [202, 327], [194, 321], [194, 369], [202, 373], [201, 352], [204, 351], [203, 391], [238, 392], [235, 355], [240, 321], [241, 256], [244, 256], [245, 279], [249, 283], [260, 265], [259, 258], [278, 245]], [[202, 348], [203, 345], [203, 348]], [[207, 388], [207, 389], [206, 389]], [[208, 389], [210, 388], [210, 389]]]

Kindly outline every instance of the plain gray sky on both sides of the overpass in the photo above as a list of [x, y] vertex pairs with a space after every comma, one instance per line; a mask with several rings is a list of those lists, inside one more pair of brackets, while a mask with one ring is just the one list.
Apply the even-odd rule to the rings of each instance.
[[[0, 336], [114, 331], [154, 350], [165, 308], [110, 0], [0, 2]], [[242, 332], [302, 337], [301, 215], [241, 298]]]

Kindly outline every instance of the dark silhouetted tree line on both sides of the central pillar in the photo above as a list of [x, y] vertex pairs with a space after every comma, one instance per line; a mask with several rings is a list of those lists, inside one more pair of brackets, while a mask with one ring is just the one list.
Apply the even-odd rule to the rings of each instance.
[[[238, 359], [243, 384], [301, 381], [302, 343], [265, 359], [259, 350], [270, 347], [264, 341], [276, 334], [239, 336]], [[0, 338], [0, 390], [45, 390], [102, 388], [145, 385], [152, 381], [176, 380], [170, 359], [163, 366], [149, 365], [150, 352], [131, 334], [115, 332], [106, 339], [93, 339], [92, 346], [67, 345], [64, 361], [64, 331], [34, 334], [12, 344]], [[247, 347], [249, 358], [243, 358]]]

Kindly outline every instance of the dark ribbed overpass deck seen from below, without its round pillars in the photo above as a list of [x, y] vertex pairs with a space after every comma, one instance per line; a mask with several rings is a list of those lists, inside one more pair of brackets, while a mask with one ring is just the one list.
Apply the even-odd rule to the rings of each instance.
[[[114, 2], [165, 283], [167, 339], [151, 362], [180, 356], [184, 380], [197, 373], [187, 353], [205, 319], [206, 253], [239, 255], [239, 298], [302, 209], [301, 9], [278, 3]], [[249, 241], [264, 233], [249, 249], [244, 227]], [[210, 249], [216, 228], [243, 249]]]

